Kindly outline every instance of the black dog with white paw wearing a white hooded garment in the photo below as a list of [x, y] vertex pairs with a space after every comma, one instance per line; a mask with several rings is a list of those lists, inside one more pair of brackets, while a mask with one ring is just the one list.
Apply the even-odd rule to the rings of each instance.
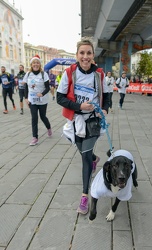
[[133, 156], [126, 150], [117, 150], [105, 162], [92, 182], [89, 220], [93, 221], [96, 218], [96, 206], [100, 197], [116, 197], [114, 205], [106, 217], [107, 221], [112, 221], [119, 202], [131, 198], [132, 184], [135, 187], [138, 186], [137, 168]]

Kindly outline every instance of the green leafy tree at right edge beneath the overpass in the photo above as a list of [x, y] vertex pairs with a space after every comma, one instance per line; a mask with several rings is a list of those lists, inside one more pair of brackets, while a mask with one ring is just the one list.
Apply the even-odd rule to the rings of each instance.
[[145, 51], [141, 54], [141, 60], [138, 63], [137, 75], [147, 76], [152, 75], [152, 53]]

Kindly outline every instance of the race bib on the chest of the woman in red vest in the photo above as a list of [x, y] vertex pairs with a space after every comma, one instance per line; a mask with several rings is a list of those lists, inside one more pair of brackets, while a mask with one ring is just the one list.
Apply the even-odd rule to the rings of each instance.
[[75, 84], [74, 95], [76, 98], [76, 102], [79, 104], [87, 101], [92, 101], [94, 96], [94, 89], [79, 84]]

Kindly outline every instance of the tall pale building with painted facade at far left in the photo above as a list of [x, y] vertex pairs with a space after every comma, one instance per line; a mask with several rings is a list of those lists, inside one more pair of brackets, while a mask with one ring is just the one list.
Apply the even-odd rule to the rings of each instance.
[[24, 63], [23, 17], [7, 0], [0, 0], [0, 65], [16, 74]]

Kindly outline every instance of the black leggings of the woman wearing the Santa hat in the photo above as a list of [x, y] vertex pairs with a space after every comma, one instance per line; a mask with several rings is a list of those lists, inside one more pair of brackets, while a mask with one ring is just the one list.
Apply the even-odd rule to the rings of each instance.
[[47, 104], [36, 105], [30, 104], [31, 116], [32, 116], [32, 134], [33, 137], [38, 138], [38, 110], [40, 118], [47, 129], [51, 128], [50, 122], [46, 117]]

